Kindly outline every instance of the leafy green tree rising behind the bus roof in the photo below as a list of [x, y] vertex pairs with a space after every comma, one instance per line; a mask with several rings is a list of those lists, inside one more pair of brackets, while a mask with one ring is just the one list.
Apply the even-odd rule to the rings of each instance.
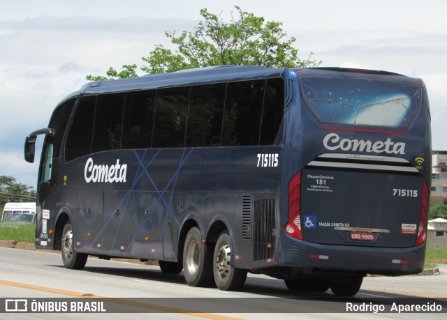
[[[203, 20], [195, 31], [183, 31], [179, 36], [175, 31], [166, 31], [170, 42], [177, 46], [175, 51], [156, 45], [149, 56], [142, 57], [147, 66], [140, 69], [145, 73], [166, 73], [182, 69], [233, 64], [239, 66], [265, 66], [270, 68], [302, 68], [318, 66], [321, 61], [298, 57], [298, 49], [293, 47], [296, 39], [286, 38], [281, 22], [265, 22], [236, 6], [237, 17], [231, 15], [229, 23], [220, 15], [200, 10]], [[121, 72], [110, 68], [105, 76], [88, 75], [91, 81], [137, 77], [135, 64], [124, 65]]]

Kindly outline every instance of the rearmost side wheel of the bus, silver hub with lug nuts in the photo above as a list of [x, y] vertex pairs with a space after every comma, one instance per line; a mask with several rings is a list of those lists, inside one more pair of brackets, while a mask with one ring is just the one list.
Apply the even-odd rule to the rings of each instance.
[[230, 236], [223, 231], [217, 239], [213, 254], [214, 282], [221, 290], [237, 291], [244, 287], [247, 270], [230, 265], [231, 247]]

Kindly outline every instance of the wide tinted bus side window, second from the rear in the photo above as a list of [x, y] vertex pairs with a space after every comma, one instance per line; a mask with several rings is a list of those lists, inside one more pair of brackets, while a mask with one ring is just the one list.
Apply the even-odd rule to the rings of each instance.
[[222, 146], [257, 146], [265, 80], [229, 82], [223, 111]]

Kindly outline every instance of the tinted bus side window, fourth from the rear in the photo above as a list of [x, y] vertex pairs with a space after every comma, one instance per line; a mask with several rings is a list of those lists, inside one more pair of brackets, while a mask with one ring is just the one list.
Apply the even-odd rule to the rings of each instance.
[[159, 89], [152, 148], [182, 148], [186, 134], [189, 86]]

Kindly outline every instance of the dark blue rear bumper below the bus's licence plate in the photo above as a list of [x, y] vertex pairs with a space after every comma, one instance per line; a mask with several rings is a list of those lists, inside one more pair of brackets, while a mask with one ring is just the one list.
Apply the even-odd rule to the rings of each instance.
[[405, 275], [424, 267], [425, 245], [406, 248], [321, 245], [284, 236], [279, 266]]

